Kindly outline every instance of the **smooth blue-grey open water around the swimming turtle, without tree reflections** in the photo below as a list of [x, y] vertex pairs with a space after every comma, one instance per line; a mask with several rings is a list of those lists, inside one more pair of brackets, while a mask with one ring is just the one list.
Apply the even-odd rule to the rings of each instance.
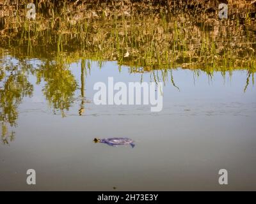
[[[15, 58], [4, 60], [20, 66]], [[42, 62], [28, 64], [33, 70]], [[150, 105], [93, 103], [96, 82], [107, 84], [108, 77], [141, 82], [141, 73], [125, 66], [120, 70], [115, 61], [102, 68], [93, 62], [84, 73], [83, 92], [81, 63], [69, 70], [77, 87], [64, 113], [45, 98], [44, 79], [36, 83], [36, 75], [27, 73], [33, 93], [22, 98], [16, 127], [8, 128], [15, 138], [0, 145], [0, 190], [256, 189], [256, 89], [250, 79], [244, 92], [247, 71], [225, 77], [216, 72], [211, 78], [203, 71], [196, 76], [189, 69], [173, 69], [176, 87], [169, 73], [163, 110], [150, 112]], [[142, 81], [154, 81], [152, 73], [143, 73]], [[127, 137], [135, 147], [93, 143], [95, 137]], [[30, 168], [36, 170], [35, 186], [26, 184]], [[228, 170], [226, 186], [218, 184], [223, 168]]]

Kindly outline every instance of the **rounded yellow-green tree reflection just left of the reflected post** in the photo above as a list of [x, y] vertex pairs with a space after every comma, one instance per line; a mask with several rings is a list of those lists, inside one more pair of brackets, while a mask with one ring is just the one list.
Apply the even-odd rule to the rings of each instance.
[[64, 110], [70, 108], [77, 87], [74, 75], [63, 64], [47, 61], [37, 70], [36, 77], [38, 83], [45, 81], [43, 92], [49, 105], [65, 117]]

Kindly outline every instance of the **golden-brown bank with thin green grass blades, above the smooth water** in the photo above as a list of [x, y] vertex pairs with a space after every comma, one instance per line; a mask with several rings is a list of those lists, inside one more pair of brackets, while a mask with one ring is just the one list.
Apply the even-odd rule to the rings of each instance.
[[12, 7], [2, 18], [1, 44], [25, 45], [26, 55], [36, 52], [35, 45], [47, 47], [47, 55], [68, 50], [80, 59], [118, 61], [132, 72], [255, 72], [256, 8], [248, 1], [228, 1], [227, 20], [218, 18], [217, 1], [63, 2], [40, 1], [34, 21], [25, 18], [22, 3], [20, 10]]

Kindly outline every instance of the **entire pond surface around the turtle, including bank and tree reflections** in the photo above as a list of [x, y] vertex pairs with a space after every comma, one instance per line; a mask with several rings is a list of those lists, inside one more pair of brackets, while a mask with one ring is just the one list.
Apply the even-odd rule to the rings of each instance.
[[[255, 4], [17, 2], [0, 5], [1, 191], [256, 190]], [[96, 105], [111, 77], [163, 83], [161, 111]]]

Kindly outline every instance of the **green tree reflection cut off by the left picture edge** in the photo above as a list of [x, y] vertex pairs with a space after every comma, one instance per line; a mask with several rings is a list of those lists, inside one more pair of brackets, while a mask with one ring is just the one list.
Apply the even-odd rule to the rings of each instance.
[[24, 96], [31, 96], [33, 85], [28, 81], [28, 72], [18, 66], [8, 66], [0, 71], [0, 121], [1, 140], [9, 143], [15, 133], [9, 133], [8, 126], [16, 126], [17, 108]]

